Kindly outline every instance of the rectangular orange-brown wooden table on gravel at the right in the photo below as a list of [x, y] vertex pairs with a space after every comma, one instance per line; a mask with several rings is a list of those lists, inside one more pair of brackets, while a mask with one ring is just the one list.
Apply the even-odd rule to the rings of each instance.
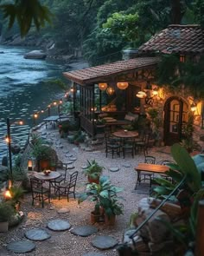
[[140, 173], [141, 172], [149, 172], [152, 174], [165, 174], [166, 171], [169, 171], [168, 166], [164, 165], [157, 165], [157, 164], [150, 164], [150, 163], [138, 163], [137, 167], [135, 167], [137, 171], [137, 182], [140, 182]]

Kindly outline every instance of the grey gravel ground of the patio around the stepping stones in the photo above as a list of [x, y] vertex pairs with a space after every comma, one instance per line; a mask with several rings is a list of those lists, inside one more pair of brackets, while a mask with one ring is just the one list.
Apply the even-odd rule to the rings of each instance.
[[[41, 128], [42, 134], [46, 135], [48, 139], [51, 139], [54, 144], [53, 148], [56, 149], [59, 159], [61, 161], [67, 161], [67, 152], [73, 154], [77, 157], [77, 161], [73, 163], [75, 170], [79, 171], [76, 192], [84, 191], [86, 187], [86, 177], [82, 174], [82, 166], [86, 165], [87, 160], [93, 160], [99, 162], [101, 166], [105, 167], [103, 174], [108, 175], [112, 181], [112, 184], [123, 187], [124, 191], [121, 194], [124, 197], [124, 215], [117, 216], [117, 221], [115, 226], [105, 226], [103, 224], [95, 224], [99, 228], [97, 235], [111, 235], [118, 242], [123, 239], [124, 230], [127, 228], [130, 221], [131, 213], [137, 212], [137, 203], [143, 197], [146, 197], [148, 191], [134, 190], [135, 182], [137, 179], [137, 174], [134, 171], [134, 167], [137, 166], [138, 162], [143, 162], [143, 154], [135, 155], [134, 158], [131, 156], [121, 158], [114, 158], [109, 155], [108, 158], [105, 157], [105, 149], [98, 148], [95, 151], [87, 152], [81, 147], [76, 147], [73, 144], [69, 144], [66, 139], [61, 139], [58, 131], [48, 127], [46, 130], [44, 127]], [[150, 155], [156, 157], [156, 161], [160, 160], [171, 160], [169, 154], [169, 148], [151, 148], [149, 151]], [[129, 165], [130, 167], [124, 167]], [[119, 167], [119, 171], [112, 173], [109, 171], [109, 167]], [[57, 210], [67, 207], [69, 213], [57, 213]], [[31, 194], [26, 194], [22, 202], [22, 211], [25, 214], [22, 223], [16, 227], [10, 228], [8, 233], [0, 233], [0, 256], [7, 255], [22, 255], [18, 253], [11, 253], [6, 250], [6, 245], [10, 241], [23, 240], [25, 239], [24, 233], [31, 228], [41, 227], [48, 230], [47, 223], [48, 220], [53, 219], [63, 219], [68, 220], [71, 224], [71, 228], [76, 226], [83, 226], [90, 224], [90, 213], [93, 209], [93, 205], [89, 201], [83, 202], [80, 206], [77, 200], [72, 198], [67, 202], [67, 199], [53, 199], [51, 204], [45, 204], [42, 209], [41, 205], [35, 203], [35, 207], [31, 206]], [[99, 252], [97, 248], [92, 247], [91, 241], [96, 234], [92, 236], [83, 238], [75, 236], [69, 231], [66, 232], [53, 232], [48, 230], [51, 234], [51, 238], [44, 241], [35, 242], [35, 251], [31, 253], [24, 253], [24, 255], [61, 255], [61, 256], [72, 256], [78, 255], [83, 256], [85, 253], [89, 252]], [[106, 250], [105, 255], [118, 255], [116, 248]]]

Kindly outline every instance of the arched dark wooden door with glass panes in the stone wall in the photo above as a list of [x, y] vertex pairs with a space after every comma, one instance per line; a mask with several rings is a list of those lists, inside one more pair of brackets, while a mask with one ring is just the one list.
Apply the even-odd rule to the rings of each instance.
[[169, 97], [164, 104], [163, 141], [167, 146], [182, 141], [182, 128], [188, 120], [188, 104], [177, 96]]

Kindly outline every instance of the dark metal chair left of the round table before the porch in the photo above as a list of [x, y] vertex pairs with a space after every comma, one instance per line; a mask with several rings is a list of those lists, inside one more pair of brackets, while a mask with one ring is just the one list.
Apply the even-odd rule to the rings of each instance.
[[114, 154], [118, 154], [120, 156], [121, 151], [121, 141], [118, 141], [116, 138], [105, 134], [105, 154], [106, 157], [109, 153], [112, 154], [112, 158]]

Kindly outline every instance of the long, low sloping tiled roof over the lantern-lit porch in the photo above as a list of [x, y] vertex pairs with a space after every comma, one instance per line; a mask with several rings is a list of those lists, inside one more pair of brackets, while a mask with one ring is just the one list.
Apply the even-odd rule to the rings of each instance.
[[112, 62], [87, 69], [64, 72], [68, 79], [81, 85], [92, 82], [103, 82], [114, 75], [123, 75], [131, 70], [154, 66], [159, 62], [157, 57], [138, 57], [127, 61]]

